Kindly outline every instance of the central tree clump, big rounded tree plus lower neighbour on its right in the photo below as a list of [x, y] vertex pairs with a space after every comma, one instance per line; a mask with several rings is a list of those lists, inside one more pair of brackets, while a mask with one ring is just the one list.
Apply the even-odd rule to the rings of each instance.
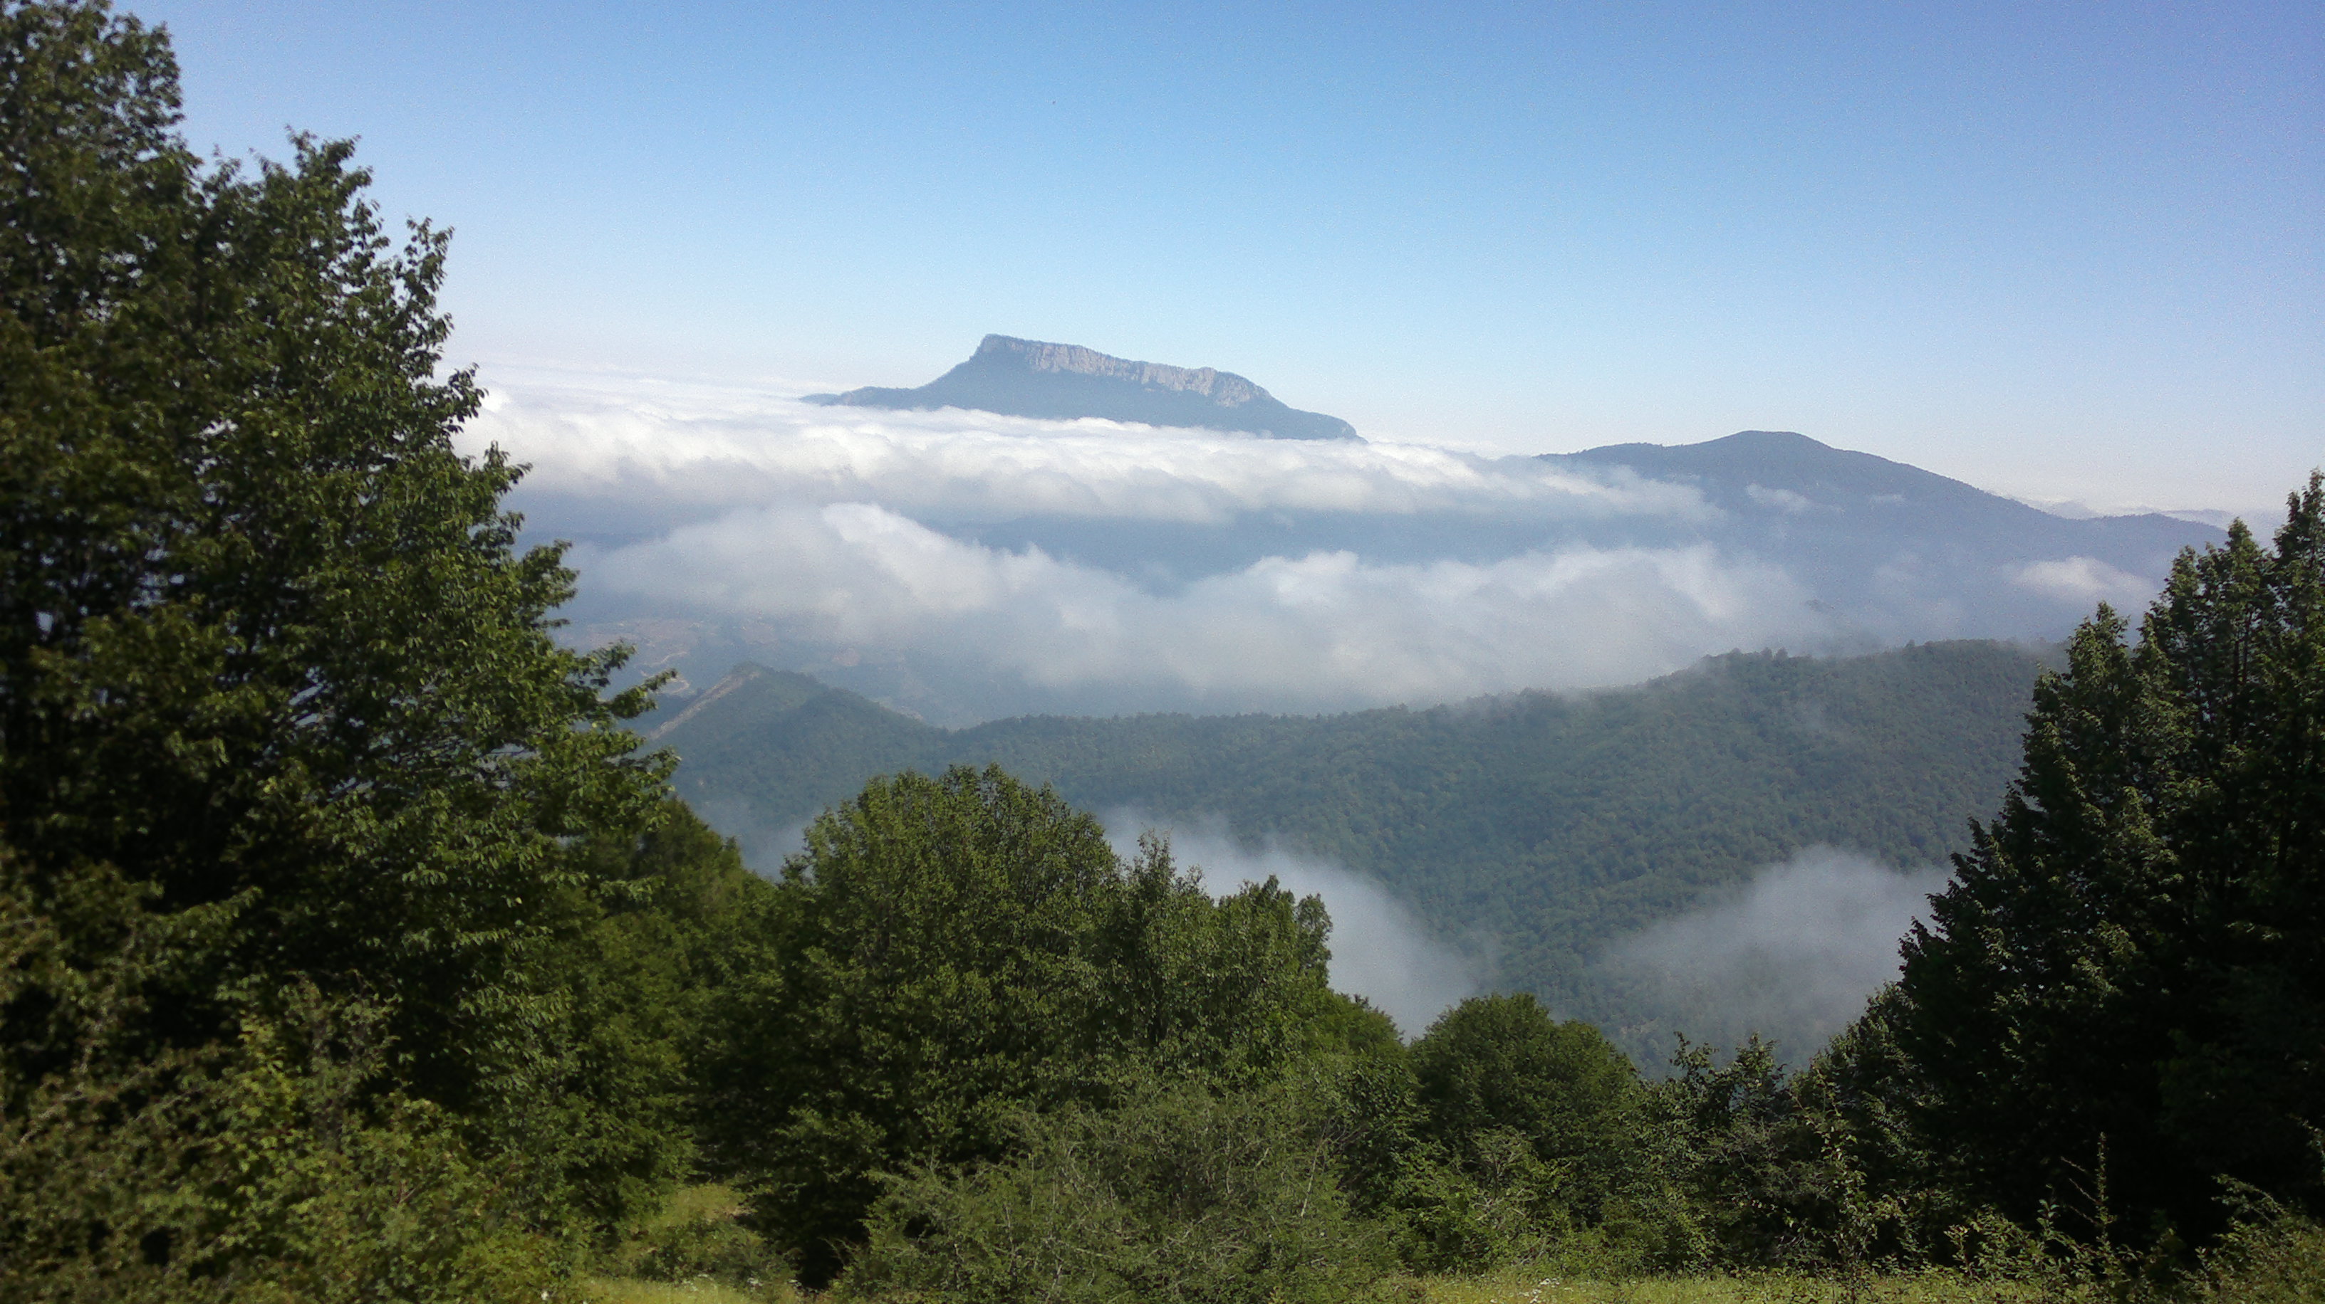
[[[1321, 902], [1214, 902], [1151, 841], [997, 767], [900, 774], [784, 865], [704, 1072], [711, 1158], [828, 1281], [879, 1174], [997, 1160], [1025, 1109], [1104, 1106], [1160, 1074], [1218, 1088], [1314, 1053]], [[1362, 1020], [1358, 1020], [1362, 1025]]]

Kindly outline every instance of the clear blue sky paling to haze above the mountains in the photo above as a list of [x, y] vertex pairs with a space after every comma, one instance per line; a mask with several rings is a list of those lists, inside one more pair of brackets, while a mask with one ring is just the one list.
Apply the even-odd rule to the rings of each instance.
[[2030, 497], [2325, 463], [2325, 7], [170, 0], [360, 135], [456, 360], [921, 384], [988, 330], [1497, 451], [1788, 428]]

